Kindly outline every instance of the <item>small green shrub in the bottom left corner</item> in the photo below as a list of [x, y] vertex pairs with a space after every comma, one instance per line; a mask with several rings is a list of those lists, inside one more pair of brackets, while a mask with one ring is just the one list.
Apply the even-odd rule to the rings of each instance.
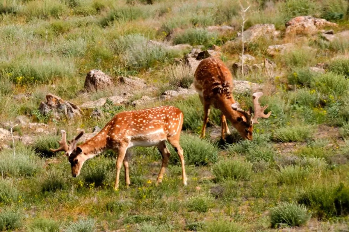
[[19, 230], [22, 227], [22, 215], [13, 210], [3, 210], [0, 213], [0, 230]]

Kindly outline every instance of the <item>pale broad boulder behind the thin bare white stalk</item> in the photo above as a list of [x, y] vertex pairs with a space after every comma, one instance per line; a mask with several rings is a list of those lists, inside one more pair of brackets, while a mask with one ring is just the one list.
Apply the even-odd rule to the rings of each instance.
[[[243, 35], [244, 42], [252, 42], [261, 37], [267, 39], [275, 38], [279, 35], [279, 32], [275, 30], [274, 24], [256, 24], [244, 31]], [[239, 34], [239, 36], [235, 39], [235, 42], [241, 42], [242, 38], [242, 34]]]

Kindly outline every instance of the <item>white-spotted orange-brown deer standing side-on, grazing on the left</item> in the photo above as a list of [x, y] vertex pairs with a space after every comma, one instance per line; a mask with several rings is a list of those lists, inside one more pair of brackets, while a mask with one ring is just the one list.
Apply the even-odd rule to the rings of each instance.
[[162, 155], [162, 166], [157, 176], [157, 184], [162, 182], [165, 168], [168, 165], [170, 151], [166, 147], [167, 140], [178, 153], [182, 165], [183, 184], [187, 185], [185, 175], [183, 149], [179, 145], [179, 136], [183, 125], [183, 113], [173, 106], [159, 106], [145, 110], [125, 111], [115, 115], [105, 127], [94, 137], [76, 146], [84, 134], [81, 131], [72, 141], [67, 143], [66, 132], [61, 130], [62, 139], [58, 149], [52, 152], [64, 151], [72, 165], [72, 175], [80, 174], [83, 163], [103, 152], [112, 149], [118, 153], [116, 161], [116, 180], [114, 189], [119, 186], [121, 164], [125, 168], [126, 187], [129, 186], [127, 149], [134, 146], [157, 146]]

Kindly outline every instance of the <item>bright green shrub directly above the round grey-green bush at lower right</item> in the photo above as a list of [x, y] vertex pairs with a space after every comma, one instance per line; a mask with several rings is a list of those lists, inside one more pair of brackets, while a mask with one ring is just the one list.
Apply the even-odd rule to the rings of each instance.
[[275, 176], [279, 184], [300, 184], [309, 176], [309, 170], [307, 168], [290, 165], [281, 167], [280, 171], [275, 171]]

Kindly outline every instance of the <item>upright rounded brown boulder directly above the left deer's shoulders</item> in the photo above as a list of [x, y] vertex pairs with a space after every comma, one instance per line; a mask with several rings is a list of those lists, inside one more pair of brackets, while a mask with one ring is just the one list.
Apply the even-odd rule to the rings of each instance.
[[91, 92], [106, 89], [112, 85], [111, 77], [100, 70], [94, 69], [87, 73], [84, 88], [87, 92]]

